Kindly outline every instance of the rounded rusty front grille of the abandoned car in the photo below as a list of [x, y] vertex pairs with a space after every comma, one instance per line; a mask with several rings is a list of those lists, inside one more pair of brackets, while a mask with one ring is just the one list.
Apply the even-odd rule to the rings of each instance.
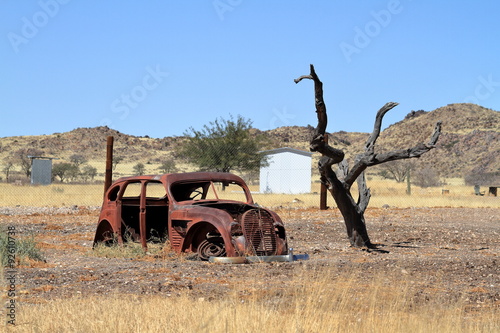
[[271, 214], [263, 209], [251, 209], [243, 214], [241, 220], [248, 254], [275, 255], [276, 231]]

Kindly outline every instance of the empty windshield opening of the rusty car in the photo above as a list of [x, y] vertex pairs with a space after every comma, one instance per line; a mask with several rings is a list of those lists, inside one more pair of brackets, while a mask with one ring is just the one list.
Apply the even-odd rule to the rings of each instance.
[[188, 200], [234, 200], [247, 202], [244, 189], [237, 183], [220, 181], [181, 182], [171, 186], [174, 199]]

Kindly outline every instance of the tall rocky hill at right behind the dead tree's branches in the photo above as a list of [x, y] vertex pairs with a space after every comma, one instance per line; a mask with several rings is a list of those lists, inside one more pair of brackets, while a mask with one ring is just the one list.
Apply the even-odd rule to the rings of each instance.
[[443, 125], [437, 148], [425, 154], [420, 163], [454, 177], [500, 171], [500, 113], [475, 104], [449, 104], [432, 112], [410, 114], [388, 127], [379, 144], [404, 148], [417, 140], [427, 142], [439, 120]]

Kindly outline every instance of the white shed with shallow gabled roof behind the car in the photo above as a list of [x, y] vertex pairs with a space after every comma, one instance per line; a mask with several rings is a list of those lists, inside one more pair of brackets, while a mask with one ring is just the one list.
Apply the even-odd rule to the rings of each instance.
[[278, 148], [263, 151], [268, 166], [260, 168], [260, 193], [309, 193], [311, 192], [312, 153]]

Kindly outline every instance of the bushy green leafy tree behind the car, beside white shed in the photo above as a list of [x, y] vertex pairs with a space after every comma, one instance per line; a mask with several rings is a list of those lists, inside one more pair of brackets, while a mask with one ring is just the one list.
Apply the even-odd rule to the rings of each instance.
[[252, 122], [242, 116], [222, 118], [203, 126], [190, 127], [184, 133], [187, 140], [177, 151], [202, 171], [241, 172], [258, 170], [266, 163], [260, 152], [264, 139], [251, 133]]

